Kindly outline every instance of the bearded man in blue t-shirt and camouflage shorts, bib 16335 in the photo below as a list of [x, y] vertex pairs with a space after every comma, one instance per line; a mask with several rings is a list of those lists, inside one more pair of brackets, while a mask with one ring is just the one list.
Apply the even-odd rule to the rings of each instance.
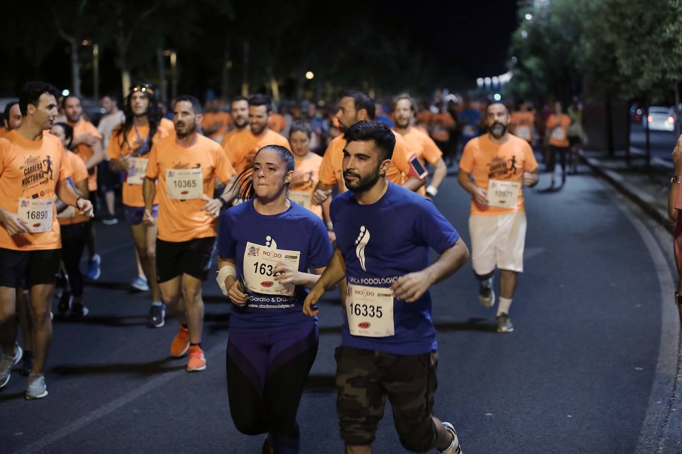
[[[336, 349], [346, 452], [372, 452], [388, 397], [404, 447], [460, 453], [454, 427], [432, 415], [438, 355], [428, 287], [464, 265], [469, 250], [431, 201], [386, 180], [395, 144], [382, 123], [361, 121], [346, 131], [343, 177], [350, 191], [331, 202], [337, 248], [303, 312], [316, 316], [325, 290], [346, 279]], [[432, 265], [430, 248], [440, 254]]]

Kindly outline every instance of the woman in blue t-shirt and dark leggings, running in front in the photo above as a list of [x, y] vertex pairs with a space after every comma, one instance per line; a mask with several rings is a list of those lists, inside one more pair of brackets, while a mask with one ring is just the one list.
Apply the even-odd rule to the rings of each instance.
[[236, 182], [246, 201], [224, 212], [218, 234], [218, 285], [233, 302], [232, 418], [243, 434], [268, 434], [265, 453], [298, 452], [296, 413], [318, 346], [317, 320], [303, 314], [303, 301], [332, 255], [321, 219], [287, 197], [293, 174], [289, 150], [258, 150]]

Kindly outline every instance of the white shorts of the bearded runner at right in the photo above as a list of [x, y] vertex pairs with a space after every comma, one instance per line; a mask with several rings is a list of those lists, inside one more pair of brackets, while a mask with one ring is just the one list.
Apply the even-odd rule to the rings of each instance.
[[523, 272], [526, 212], [469, 216], [471, 263], [479, 276], [500, 270]]

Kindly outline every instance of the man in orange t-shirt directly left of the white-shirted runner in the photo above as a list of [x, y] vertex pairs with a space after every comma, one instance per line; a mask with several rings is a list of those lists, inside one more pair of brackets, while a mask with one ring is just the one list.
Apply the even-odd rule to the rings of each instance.
[[[104, 159], [102, 150], [102, 134], [95, 125], [83, 118], [83, 106], [80, 97], [68, 95], [62, 101], [66, 123], [74, 129], [74, 140], [71, 150], [85, 161], [89, 173], [88, 190], [90, 201], [97, 209], [97, 165]], [[91, 280], [100, 277], [100, 262], [102, 259], [95, 251], [95, 224], [89, 221], [87, 249], [89, 255], [87, 278]]]

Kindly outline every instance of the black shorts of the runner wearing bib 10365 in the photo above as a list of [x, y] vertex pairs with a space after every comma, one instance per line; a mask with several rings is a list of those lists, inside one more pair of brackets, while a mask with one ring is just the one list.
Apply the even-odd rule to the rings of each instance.
[[156, 239], [156, 278], [166, 282], [177, 276], [206, 280], [216, 253], [216, 237], [171, 242]]

